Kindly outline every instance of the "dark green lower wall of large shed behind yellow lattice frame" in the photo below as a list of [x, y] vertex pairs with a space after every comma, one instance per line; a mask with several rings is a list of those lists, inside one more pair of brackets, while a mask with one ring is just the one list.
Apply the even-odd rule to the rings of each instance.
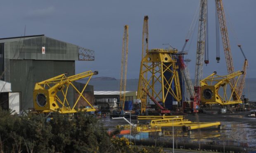
[[[40, 82], [59, 74], [75, 74], [75, 61], [61, 60], [10, 60], [10, 82], [13, 92], [21, 92], [21, 109], [33, 107], [33, 89]], [[74, 100], [74, 91], [69, 89], [69, 102]], [[72, 105], [73, 103], [71, 103]]]

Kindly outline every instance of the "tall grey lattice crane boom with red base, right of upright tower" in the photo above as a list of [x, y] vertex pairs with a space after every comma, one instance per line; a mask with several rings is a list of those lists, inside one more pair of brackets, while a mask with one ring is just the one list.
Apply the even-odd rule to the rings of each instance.
[[197, 36], [197, 56], [196, 56], [196, 70], [195, 70], [195, 85], [194, 85], [194, 102], [191, 105], [194, 112], [197, 112], [197, 106], [200, 103], [201, 86], [200, 80], [203, 74], [204, 63], [204, 50], [205, 50], [205, 38], [206, 38], [206, 22], [207, 22], [207, 0], [200, 1], [199, 11], [199, 27]]

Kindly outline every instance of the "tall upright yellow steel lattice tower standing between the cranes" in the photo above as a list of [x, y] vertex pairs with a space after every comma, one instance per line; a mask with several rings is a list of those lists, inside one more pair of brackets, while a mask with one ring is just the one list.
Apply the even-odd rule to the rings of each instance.
[[[140, 67], [137, 99], [145, 99], [145, 91], [149, 91], [150, 95], [163, 102], [163, 105], [168, 94], [171, 94], [176, 101], [181, 100], [178, 66], [176, 65], [177, 61], [173, 59], [173, 54], [177, 52], [177, 49], [151, 49], [146, 53]], [[166, 78], [165, 73], [172, 75], [170, 78]], [[156, 90], [156, 84], [161, 85], [160, 90]], [[172, 89], [173, 85], [174, 90]], [[141, 113], [145, 113], [145, 110], [146, 105], [142, 103]]]

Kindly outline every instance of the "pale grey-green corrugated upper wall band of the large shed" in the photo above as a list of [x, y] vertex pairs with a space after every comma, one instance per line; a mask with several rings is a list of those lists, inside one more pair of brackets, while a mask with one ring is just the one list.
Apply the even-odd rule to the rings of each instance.
[[5, 42], [5, 53], [9, 59], [78, 60], [78, 46], [45, 36]]

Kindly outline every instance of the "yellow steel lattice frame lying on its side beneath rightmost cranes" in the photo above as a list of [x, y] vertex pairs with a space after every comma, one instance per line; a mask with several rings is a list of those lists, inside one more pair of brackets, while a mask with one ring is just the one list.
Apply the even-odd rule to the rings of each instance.
[[[237, 71], [225, 76], [217, 75], [214, 72], [201, 80], [201, 103], [221, 105], [242, 103], [236, 90], [241, 74], [243, 74], [243, 71]], [[231, 80], [235, 80], [234, 86], [232, 86]], [[227, 92], [227, 88], [231, 88], [230, 95]], [[223, 90], [223, 95], [220, 95], [219, 90]]]

